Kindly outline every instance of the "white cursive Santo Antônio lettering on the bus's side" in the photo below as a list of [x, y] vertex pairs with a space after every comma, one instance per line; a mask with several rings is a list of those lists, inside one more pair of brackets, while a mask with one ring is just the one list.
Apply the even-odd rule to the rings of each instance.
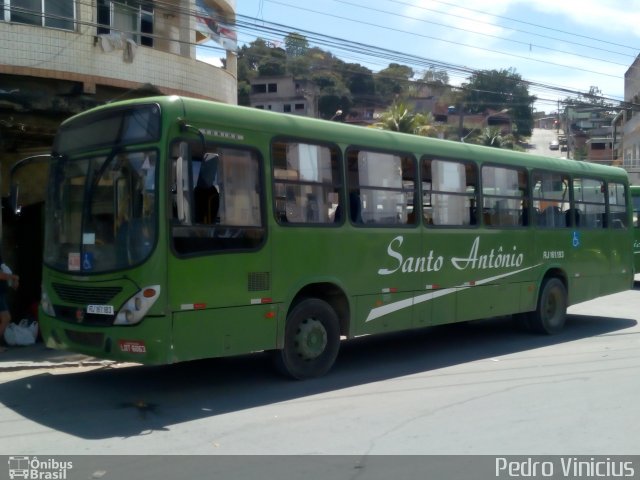
[[[380, 268], [378, 275], [391, 275], [401, 273], [438, 272], [444, 266], [445, 258], [429, 250], [421, 257], [405, 256], [402, 252], [404, 237], [399, 235], [393, 238], [387, 246], [387, 255], [391, 259], [389, 268]], [[490, 270], [497, 268], [521, 267], [524, 255], [518, 252], [518, 247], [511, 247], [511, 252], [506, 252], [503, 246], [492, 248], [488, 252], [480, 250], [480, 237], [476, 237], [469, 253], [464, 257], [451, 257], [449, 261], [457, 270]]]

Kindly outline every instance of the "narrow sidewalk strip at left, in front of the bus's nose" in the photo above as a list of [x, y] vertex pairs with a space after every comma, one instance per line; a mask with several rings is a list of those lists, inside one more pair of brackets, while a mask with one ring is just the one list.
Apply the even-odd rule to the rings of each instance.
[[0, 352], [0, 373], [37, 368], [59, 368], [73, 366], [99, 366], [113, 363], [77, 353], [53, 350], [38, 342], [26, 347], [6, 347]]

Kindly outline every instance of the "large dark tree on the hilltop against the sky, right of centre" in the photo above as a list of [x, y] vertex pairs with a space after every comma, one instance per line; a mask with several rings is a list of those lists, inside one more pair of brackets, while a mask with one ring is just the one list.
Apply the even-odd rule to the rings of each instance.
[[483, 70], [469, 77], [463, 85], [461, 101], [465, 111], [485, 113], [488, 110], [508, 110], [518, 136], [531, 136], [536, 100], [529, 94], [527, 83], [513, 69]]

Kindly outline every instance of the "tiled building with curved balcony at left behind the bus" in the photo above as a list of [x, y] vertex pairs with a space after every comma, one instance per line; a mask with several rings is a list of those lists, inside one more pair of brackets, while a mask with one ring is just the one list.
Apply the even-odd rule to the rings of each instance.
[[[118, 99], [237, 103], [236, 0], [0, 0], [3, 259], [21, 276], [14, 318], [39, 299], [47, 163], [66, 118]], [[226, 37], [221, 38], [222, 32]], [[220, 65], [198, 60], [215, 52]], [[19, 187], [21, 214], [8, 205]]]

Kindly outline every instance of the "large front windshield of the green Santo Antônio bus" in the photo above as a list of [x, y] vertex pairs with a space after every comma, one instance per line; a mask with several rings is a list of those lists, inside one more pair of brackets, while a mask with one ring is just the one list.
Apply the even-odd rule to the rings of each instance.
[[156, 243], [155, 150], [54, 157], [44, 262], [103, 273], [142, 262]]

